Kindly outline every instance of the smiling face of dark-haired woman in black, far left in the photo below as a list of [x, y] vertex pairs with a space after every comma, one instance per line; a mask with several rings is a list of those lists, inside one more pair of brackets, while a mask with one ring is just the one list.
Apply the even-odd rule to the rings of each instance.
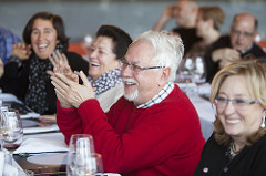
[[55, 49], [58, 33], [50, 20], [37, 19], [32, 25], [31, 45], [40, 59], [48, 59]]

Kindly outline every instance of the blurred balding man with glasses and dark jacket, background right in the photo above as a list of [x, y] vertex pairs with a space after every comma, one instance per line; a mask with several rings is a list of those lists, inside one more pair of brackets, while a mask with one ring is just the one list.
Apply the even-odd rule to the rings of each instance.
[[229, 35], [219, 38], [205, 56], [208, 82], [221, 68], [241, 58], [266, 58], [265, 52], [255, 43], [257, 25], [257, 19], [250, 13], [238, 13], [234, 17]]

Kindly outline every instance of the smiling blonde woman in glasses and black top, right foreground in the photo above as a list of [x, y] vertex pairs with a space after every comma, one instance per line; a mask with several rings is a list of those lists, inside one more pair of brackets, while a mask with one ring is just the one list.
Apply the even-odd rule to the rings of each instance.
[[266, 63], [241, 60], [212, 82], [217, 117], [195, 176], [265, 175]]

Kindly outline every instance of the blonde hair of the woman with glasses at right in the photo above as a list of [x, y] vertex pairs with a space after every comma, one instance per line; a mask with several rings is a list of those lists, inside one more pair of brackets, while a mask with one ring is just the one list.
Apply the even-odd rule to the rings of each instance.
[[[232, 75], [241, 75], [246, 80], [247, 90], [252, 97], [259, 101], [259, 105], [266, 110], [266, 63], [263, 60], [249, 59], [239, 60], [221, 70], [212, 82], [209, 101], [214, 104], [215, 96], [219, 92], [219, 87], [224, 81]], [[257, 132], [246, 138], [246, 145], [257, 142], [264, 134], [266, 128], [259, 127]], [[219, 145], [226, 145], [231, 141], [231, 136], [225, 133], [219, 116], [214, 122], [214, 138]]]

